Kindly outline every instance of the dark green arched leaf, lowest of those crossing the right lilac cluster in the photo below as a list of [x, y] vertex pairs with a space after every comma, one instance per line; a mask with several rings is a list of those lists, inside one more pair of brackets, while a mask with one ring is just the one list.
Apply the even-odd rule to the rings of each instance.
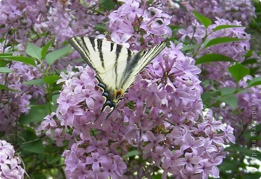
[[236, 62], [235, 60], [221, 54], [206, 54], [201, 57], [199, 57], [195, 64], [202, 64], [202, 63], [208, 63], [208, 62]]

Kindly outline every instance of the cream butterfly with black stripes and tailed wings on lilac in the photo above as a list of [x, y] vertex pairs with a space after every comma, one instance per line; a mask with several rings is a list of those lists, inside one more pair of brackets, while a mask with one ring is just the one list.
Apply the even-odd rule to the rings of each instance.
[[69, 43], [96, 71], [105, 101], [101, 112], [107, 106], [112, 112], [137, 75], [166, 47], [163, 42], [147, 52], [134, 53], [119, 44], [86, 36], [74, 36]]

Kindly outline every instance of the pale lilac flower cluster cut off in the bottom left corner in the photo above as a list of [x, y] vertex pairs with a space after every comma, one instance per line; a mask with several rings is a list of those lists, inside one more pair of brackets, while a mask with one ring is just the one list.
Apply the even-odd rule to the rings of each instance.
[[20, 166], [21, 160], [15, 156], [14, 146], [6, 140], [0, 140], [0, 177], [24, 178], [25, 170]]

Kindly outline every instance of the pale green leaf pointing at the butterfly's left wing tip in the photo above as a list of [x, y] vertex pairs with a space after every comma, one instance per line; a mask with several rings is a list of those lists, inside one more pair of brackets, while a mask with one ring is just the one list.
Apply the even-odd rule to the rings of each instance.
[[51, 65], [53, 64], [58, 58], [64, 57], [73, 52], [72, 46], [68, 45], [62, 49], [55, 50], [50, 52], [46, 55], [45, 59], [46, 62]]

